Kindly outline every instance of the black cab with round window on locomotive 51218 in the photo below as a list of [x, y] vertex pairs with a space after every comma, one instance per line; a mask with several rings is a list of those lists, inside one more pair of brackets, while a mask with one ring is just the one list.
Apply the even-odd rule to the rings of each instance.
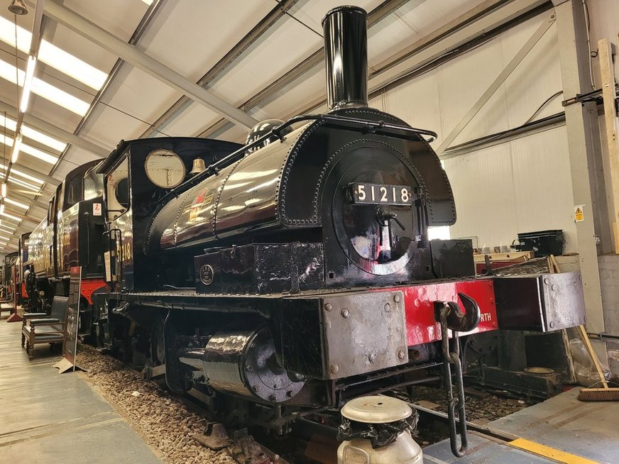
[[[240, 145], [198, 138], [121, 141], [97, 172], [104, 177], [106, 282], [125, 289], [154, 289], [168, 273], [173, 284], [192, 272], [184, 260], [154, 265], [144, 254], [145, 231], [164, 197], [192, 177], [194, 160], [215, 162]], [[181, 277], [179, 277], [181, 276]]]

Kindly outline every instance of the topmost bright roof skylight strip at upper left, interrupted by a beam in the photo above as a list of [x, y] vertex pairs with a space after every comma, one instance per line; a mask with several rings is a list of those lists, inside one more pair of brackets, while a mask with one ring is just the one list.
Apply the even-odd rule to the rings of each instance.
[[[12, 21], [0, 16], [0, 40], [15, 47], [15, 25]], [[17, 26], [18, 49], [23, 53], [30, 52], [32, 34], [26, 29]], [[99, 90], [103, 87], [107, 74], [97, 70], [96, 67], [52, 45], [47, 40], [41, 40], [38, 51], [38, 59], [46, 65], [71, 76], [73, 79], [86, 84], [92, 89]]]

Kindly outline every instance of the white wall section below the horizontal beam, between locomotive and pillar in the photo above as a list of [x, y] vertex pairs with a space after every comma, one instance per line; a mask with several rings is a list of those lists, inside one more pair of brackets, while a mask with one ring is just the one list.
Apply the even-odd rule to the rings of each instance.
[[458, 211], [451, 236], [494, 246], [558, 228], [566, 252], [576, 251], [566, 137], [562, 126], [447, 160]]

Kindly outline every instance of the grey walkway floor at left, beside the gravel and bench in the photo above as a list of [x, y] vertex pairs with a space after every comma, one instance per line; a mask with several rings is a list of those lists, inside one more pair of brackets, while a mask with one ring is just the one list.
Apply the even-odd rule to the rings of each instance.
[[37, 345], [28, 361], [21, 323], [0, 318], [0, 463], [162, 462], [79, 372]]

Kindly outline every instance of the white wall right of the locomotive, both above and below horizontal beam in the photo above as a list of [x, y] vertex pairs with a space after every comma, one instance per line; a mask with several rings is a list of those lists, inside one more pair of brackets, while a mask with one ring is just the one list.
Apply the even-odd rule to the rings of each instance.
[[[371, 106], [437, 131], [437, 148], [549, 14], [385, 92]], [[553, 25], [452, 145], [522, 125], [561, 89]], [[552, 100], [536, 119], [562, 112], [562, 99]], [[564, 229], [566, 251], [576, 251], [566, 145], [562, 126], [445, 160], [458, 213], [451, 237], [478, 236], [480, 246], [495, 246], [511, 243], [519, 232]]]

